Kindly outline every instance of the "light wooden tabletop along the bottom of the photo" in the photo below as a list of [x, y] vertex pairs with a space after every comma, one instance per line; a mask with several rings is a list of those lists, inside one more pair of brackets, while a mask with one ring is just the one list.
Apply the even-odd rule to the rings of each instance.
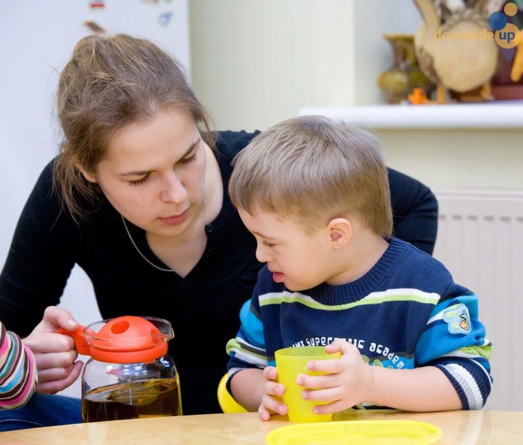
[[[523, 412], [452, 411], [415, 414], [392, 410], [357, 411], [350, 413], [349, 419], [427, 421], [443, 431], [441, 444], [523, 443]], [[285, 425], [291, 425], [287, 417], [274, 416], [270, 421], [262, 422], [257, 413], [156, 417], [3, 432], [0, 433], [0, 444], [263, 444], [267, 432]]]

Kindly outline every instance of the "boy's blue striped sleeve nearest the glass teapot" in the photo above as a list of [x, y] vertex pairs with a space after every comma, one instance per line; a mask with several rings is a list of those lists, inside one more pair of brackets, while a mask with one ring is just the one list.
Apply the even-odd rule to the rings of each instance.
[[231, 392], [231, 378], [236, 372], [246, 368], [264, 369], [268, 364], [256, 288], [253, 298], [245, 302], [240, 310], [240, 321], [238, 334], [229, 340], [226, 346], [229, 354], [227, 364], [229, 378], [226, 387], [229, 392]]

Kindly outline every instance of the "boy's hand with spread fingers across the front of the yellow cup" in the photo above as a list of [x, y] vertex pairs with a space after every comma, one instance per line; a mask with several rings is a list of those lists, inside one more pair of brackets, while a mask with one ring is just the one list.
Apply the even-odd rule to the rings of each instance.
[[325, 351], [330, 354], [341, 351], [342, 357], [339, 360], [311, 360], [307, 369], [331, 375], [299, 374], [297, 379], [300, 386], [315, 388], [303, 390], [302, 397], [305, 400], [331, 402], [315, 406], [313, 412], [337, 413], [362, 402], [371, 402], [373, 370], [363, 361], [358, 348], [337, 338], [325, 347]]

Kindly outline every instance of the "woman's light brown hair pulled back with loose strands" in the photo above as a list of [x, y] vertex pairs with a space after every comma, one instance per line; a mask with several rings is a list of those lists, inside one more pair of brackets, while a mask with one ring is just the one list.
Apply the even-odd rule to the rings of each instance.
[[[142, 123], [155, 113], [187, 110], [214, 145], [211, 118], [187, 82], [183, 67], [149, 40], [125, 34], [81, 39], [60, 75], [58, 117], [63, 131], [54, 164], [54, 188], [76, 220], [84, 216], [77, 198], [94, 198], [93, 174], [116, 131]], [[78, 195], [79, 193], [79, 195]]]

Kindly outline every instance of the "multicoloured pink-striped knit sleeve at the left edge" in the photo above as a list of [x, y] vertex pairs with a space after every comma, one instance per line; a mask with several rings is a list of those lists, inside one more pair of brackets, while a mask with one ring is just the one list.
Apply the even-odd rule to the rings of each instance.
[[26, 404], [37, 382], [36, 361], [20, 337], [0, 323], [0, 408]]

